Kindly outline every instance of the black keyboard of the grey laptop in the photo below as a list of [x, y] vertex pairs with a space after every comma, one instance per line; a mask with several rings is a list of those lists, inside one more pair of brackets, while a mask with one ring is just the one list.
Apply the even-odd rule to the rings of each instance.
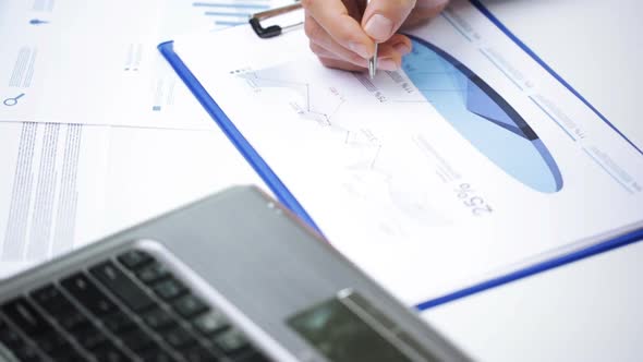
[[131, 251], [2, 304], [20, 361], [268, 361], [149, 254]]

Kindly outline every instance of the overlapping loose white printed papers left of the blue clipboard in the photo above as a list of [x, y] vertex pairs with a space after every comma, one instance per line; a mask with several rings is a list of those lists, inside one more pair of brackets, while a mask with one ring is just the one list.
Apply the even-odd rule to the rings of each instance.
[[0, 277], [259, 183], [156, 46], [284, 2], [2, 2]]

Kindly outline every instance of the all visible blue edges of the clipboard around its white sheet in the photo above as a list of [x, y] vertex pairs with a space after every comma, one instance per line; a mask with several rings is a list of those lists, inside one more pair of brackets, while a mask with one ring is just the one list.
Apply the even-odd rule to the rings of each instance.
[[[632, 147], [643, 155], [630, 140], [628, 140], [618, 129], [616, 129], [596, 108], [594, 108], [585, 98], [582, 97], [569, 83], [567, 83], [560, 75], [558, 75], [547, 63], [545, 63], [533, 50], [531, 50], [522, 40], [520, 40], [513, 33], [511, 33], [500, 21], [495, 17], [478, 0], [470, 0], [470, 2], [476, 7], [485, 16], [494, 23], [502, 33], [505, 33], [513, 43], [515, 43], [521, 49], [523, 49], [530, 57], [532, 57], [538, 64], [541, 64], [549, 74], [551, 74], [557, 81], [559, 81], [565, 87], [567, 87], [573, 95], [575, 95], [583, 104], [585, 104], [594, 113], [596, 113], [604, 122], [606, 122], [611, 129], [618, 132]], [[295, 215], [303, 219], [308, 226], [317, 230], [320, 234], [320, 229], [315, 225], [311, 216], [306, 213], [303, 206], [296, 201], [294, 195], [290, 193], [288, 188], [281, 182], [277, 174], [270, 169], [268, 164], [259, 156], [254, 147], [245, 140], [245, 137], [239, 132], [232, 121], [226, 116], [217, 102], [210, 97], [207, 90], [203, 87], [201, 82], [192, 74], [190, 69], [181, 60], [181, 58], [174, 52], [173, 41], [161, 43], [158, 46], [159, 51], [168, 60], [170, 65], [174, 69], [179, 77], [185, 83], [193, 95], [198, 99], [201, 105], [210, 114], [213, 120], [219, 125], [228, 138], [234, 144], [236, 149], [243, 155], [247, 162], [251, 164], [253, 169], [259, 174], [259, 177], [266, 182], [268, 188], [277, 195], [277, 198], [290, 208]], [[415, 307], [420, 311], [425, 311], [434, 306], [438, 306], [464, 297], [469, 297], [474, 293], [485, 291], [490, 288], [499, 287], [501, 285], [509, 283], [511, 281], [522, 279], [538, 273], [543, 273], [569, 263], [573, 263], [592, 255], [604, 253], [616, 248], [624, 246], [634, 243], [639, 240], [643, 240], [643, 229], [635, 230], [630, 233], [620, 236], [618, 238], [599, 242], [597, 244], [590, 245], [585, 249], [572, 252], [567, 255], [554, 257], [546, 262], [536, 263], [532, 266], [523, 269], [509, 273], [497, 278], [489, 279], [484, 282], [480, 282], [470, 287], [465, 287], [458, 291], [434, 298], [432, 300], [418, 303]]]

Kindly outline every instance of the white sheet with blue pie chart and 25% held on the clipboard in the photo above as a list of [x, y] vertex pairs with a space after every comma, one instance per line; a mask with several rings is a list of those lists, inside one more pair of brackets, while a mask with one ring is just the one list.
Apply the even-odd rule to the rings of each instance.
[[173, 47], [332, 245], [410, 304], [643, 227], [643, 145], [478, 9], [409, 36], [373, 81], [322, 67], [303, 32]]

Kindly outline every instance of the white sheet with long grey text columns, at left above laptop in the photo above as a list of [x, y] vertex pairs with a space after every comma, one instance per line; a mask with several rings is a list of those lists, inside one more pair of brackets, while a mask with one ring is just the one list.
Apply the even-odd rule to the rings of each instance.
[[102, 236], [107, 131], [0, 123], [0, 277]]

